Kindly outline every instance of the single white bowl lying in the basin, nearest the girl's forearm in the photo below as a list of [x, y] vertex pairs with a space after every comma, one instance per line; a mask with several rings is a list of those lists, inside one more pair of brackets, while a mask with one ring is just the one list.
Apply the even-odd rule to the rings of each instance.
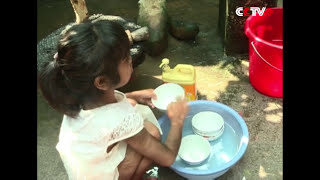
[[210, 155], [211, 146], [208, 140], [199, 135], [187, 135], [182, 138], [178, 155], [190, 165], [204, 162]]

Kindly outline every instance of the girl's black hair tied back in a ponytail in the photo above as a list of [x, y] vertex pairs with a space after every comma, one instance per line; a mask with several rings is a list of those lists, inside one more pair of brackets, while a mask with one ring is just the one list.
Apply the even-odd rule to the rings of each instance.
[[110, 85], [119, 83], [118, 65], [129, 50], [120, 24], [100, 20], [73, 25], [61, 35], [55, 58], [41, 68], [40, 90], [51, 107], [76, 117], [81, 104], [103, 93], [94, 86], [95, 77], [104, 75]]

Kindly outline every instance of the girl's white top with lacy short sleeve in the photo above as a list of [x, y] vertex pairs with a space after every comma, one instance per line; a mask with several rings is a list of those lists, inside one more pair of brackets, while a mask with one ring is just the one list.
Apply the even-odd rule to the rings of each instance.
[[[56, 146], [70, 180], [117, 180], [129, 138], [143, 128], [143, 118], [125, 95], [117, 103], [81, 110], [74, 119], [63, 117]], [[107, 148], [119, 142], [107, 153]]]

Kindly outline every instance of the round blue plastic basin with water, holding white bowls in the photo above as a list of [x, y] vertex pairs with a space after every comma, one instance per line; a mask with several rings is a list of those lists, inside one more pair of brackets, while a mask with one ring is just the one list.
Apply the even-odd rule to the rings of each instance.
[[[236, 111], [224, 104], [198, 100], [189, 102], [189, 107], [190, 111], [184, 122], [182, 137], [194, 134], [191, 120], [195, 114], [201, 111], [219, 113], [224, 119], [225, 129], [218, 139], [210, 141], [211, 154], [207, 161], [192, 166], [177, 156], [170, 168], [187, 179], [215, 179], [226, 173], [245, 154], [249, 143], [248, 127]], [[159, 123], [163, 131], [162, 141], [165, 141], [170, 129], [168, 116], [166, 114], [161, 116]]]

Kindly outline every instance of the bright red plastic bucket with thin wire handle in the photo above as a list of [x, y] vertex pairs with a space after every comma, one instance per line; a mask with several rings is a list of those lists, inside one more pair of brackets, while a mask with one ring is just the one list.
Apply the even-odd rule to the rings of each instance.
[[282, 98], [282, 8], [266, 8], [264, 14], [246, 19], [249, 39], [249, 80], [260, 93]]

